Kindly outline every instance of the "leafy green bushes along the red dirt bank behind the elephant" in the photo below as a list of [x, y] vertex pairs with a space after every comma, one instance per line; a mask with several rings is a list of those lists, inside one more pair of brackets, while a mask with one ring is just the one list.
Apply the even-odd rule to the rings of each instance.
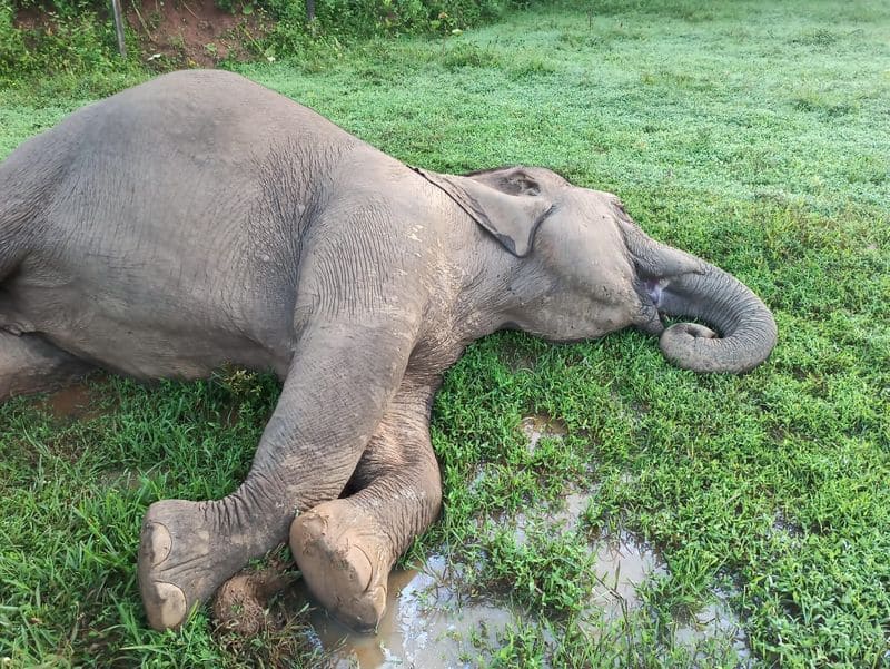
[[[134, 26], [147, 32], [148, 22], [179, 4], [180, 0], [172, 0], [166, 9], [162, 3], [152, 9], [149, 3], [142, 7], [140, 1], [134, 1], [123, 9], [131, 7]], [[312, 21], [307, 21], [305, 0], [215, 0], [215, 4], [233, 13], [261, 14], [261, 24], [267, 30], [259, 37], [250, 37], [245, 47], [255, 56], [281, 57], [314, 50], [319, 43], [340, 48], [343, 43], [373, 36], [459, 32], [501, 16], [508, 7], [527, 2], [316, 0]], [[181, 6], [195, 16], [185, 0]], [[125, 63], [117, 53], [107, 1], [0, 0], [0, 82], [48, 72], [95, 76], [120, 71], [121, 67], [134, 69], [139, 67], [141, 37], [138, 30], [128, 30], [130, 57]]]

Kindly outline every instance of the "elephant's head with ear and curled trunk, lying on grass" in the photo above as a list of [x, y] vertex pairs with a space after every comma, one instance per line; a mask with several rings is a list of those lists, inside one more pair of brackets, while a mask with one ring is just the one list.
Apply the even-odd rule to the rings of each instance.
[[[552, 341], [601, 336], [629, 325], [661, 336], [665, 357], [695, 372], [746, 372], [769, 356], [777, 327], [745, 285], [693, 255], [660, 244], [609, 193], [573, 186], [543, 168], [463, 177], [419, 171], [515, 260], [501, 326]], [[712, 325], [678, 323], [686, 316]]]

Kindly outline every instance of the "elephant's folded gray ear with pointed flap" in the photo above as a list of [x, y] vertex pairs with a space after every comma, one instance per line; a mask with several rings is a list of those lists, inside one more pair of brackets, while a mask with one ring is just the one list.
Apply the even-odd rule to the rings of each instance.
[[516, 257], [532, 250], [537, 226], [553, 209], [541, 185], [521, 167], [476, 173], [466, 177], [414, 170], [444, 190], [473, 220]]

